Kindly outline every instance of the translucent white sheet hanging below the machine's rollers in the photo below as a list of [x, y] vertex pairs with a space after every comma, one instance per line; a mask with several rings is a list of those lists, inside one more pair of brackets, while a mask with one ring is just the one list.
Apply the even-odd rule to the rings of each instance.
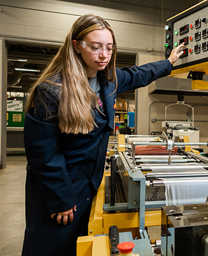
[[164, 180], [166, 205], [205, 204], [208, 195], [208, 182], [203, 178], [184, 179], [182, 182]]

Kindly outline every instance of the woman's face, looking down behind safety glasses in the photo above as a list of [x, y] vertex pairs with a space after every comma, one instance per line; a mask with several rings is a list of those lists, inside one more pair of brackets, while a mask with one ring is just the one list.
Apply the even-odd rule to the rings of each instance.
[[[81, 54], [84, 63], [86, 63], [88, 77], [93, 77], [96, 76], [97, 71], [104, 70], [111, 60], [112, 54], [109, 54], [109, 49], [113, 47], [113, 36], [108, 29], [97, 29], [84, 36], [83, 41], [86, 42], [84, 44], [87, 44], [88, 47], [84, 47], [83, 42], [80, 42], [77, 47], [79, 48], [79, 53]], [[102, 44], [104, 46], [102, 52], [95, 54], [88, 51], [91, 46], [94, 47], [94, 44], [92, 43]]]

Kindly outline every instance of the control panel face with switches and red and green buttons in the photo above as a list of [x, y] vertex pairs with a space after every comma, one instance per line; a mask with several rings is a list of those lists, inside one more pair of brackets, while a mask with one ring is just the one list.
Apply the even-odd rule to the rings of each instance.
[[164, 29], [166, 58], [173, 48], [184, 42], [184, 49], [180, 50], [183, 54], [173, 64], [173, 70], [208, 61], [208, 1], [168, 19]]

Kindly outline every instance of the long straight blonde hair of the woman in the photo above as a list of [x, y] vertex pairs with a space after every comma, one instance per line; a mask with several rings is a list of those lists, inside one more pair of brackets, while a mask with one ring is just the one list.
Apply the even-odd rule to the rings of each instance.
[[[108, 81], [115, 81], [116, 40], [111, 26], [99, 16], [83, 15], [74, 22], [64, 44], [45, 68], [38, 81], [29, 91], [26, 111], [35, 105], [35, 88], [48, 81], [49, 77], [58, 74], [62, 78], [60, 105], [58, 109], [59, 126], [62, 132], [87, 134], [95, 126], [93, 108], [99, 109], [97, 95], [88, 84], [85, 63], [72, 46], [73, 40], [83, 40], [84, 36], [97, 29], [109, 29], [113, 36], [115, 51], [107, 67], [104, 69]], [[50, 81], [48, 81], [50, 83]], [[51, 86], [56, 86], [50, 83]], [[44, 99], [43, 99], [44, 101]]]

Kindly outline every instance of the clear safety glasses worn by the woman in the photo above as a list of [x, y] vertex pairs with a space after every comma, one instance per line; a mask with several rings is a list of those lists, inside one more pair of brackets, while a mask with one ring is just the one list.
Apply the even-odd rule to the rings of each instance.
[[93, 53], [93, 54], [100, 54], [104, 50], [108, 55], [113, 54], [113, 51], [115, 50], [115, 45], [114, 44], [108, 44], [108, 45], [102, 45], [98, 43], [88, 43], [85, 41], [80, 41], [79, 43], [82, 45], [83, 48], [85, 48], [87, 51]]

